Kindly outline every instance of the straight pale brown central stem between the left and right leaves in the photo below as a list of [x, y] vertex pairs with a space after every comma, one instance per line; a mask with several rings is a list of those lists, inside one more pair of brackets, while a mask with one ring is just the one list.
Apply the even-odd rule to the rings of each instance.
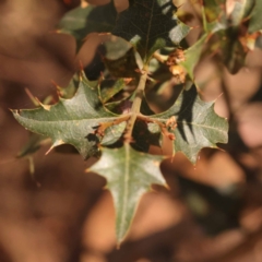
[[135, 91], [135, 97], [130, 111], [131, 117], [128, 120], [128, 124], [126, 129], [124, 143], [130, 143], [132, 141], [133, 127], [138, 118], [138, 115], [140, 114], [140, 107], [143, 99], [146, 79], [147, 79], [147, 71], [145, 70], [145, 72], [143, 72], [140, 76], [140, 82]]

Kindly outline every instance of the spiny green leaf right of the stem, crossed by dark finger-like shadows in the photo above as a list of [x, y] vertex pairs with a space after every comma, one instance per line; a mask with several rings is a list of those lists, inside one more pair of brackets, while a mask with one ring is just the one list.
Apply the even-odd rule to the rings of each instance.
[[214, 102], [203, 102], [195, 86], [183, 91], [167, 111], [152, 116], [166, 122], [175, 117], [177, 128], [174, 133], [174, 152], [182, 152], [190, 162], [196, 163], [198, 153], [203, 147], [217, 147], [216, 143], [227, 143], [228, 123], [214, 111]]

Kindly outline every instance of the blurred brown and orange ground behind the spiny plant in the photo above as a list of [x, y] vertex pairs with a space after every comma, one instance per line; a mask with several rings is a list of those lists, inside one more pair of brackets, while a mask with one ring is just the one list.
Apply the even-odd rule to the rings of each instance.
[[[106, 1], [93, 0], [93, 3]], [[193, 1], [191, 1], [192, 3]], [[128, 1], [116, 1], [119, 10]], [[192, 14], [190, 2], [182, 8]], [[218, 75], [212, 58], [196, 68], [206, 100], [230, 123], [229, 143], [203, 150], [193, 167], [177, 154], [141, 200], [127, 240], [116, 249], [115, 212], [105, 179], [86, 174], [95, 159], [51, 152], [16, 155], [29, 139], [10, 108], [33, 108], [25, 88], [56, 97], [82, 64], [95, 67], [96, 35], [75, 56], [72, 37], [55, 33], [78, 0], [0, 0], [0, 261], [1, 262], [261, 262], [262, 52], [236, 75]], [[234, 1], [228, 1], [228, 9]], [[198, 25], [193, 17], [191, 25]], [[200, 29], [188, 37], [193, 43]], [[92, 70], [91, 70], [92, 71]], [[165, 98], [163, 94], [163, 98]], [[164, 150], [169, 151], [168, 146]]]

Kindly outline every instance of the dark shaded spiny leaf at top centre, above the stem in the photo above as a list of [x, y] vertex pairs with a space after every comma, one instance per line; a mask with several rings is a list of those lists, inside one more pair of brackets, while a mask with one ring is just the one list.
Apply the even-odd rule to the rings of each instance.
[[130, 41], [144, 62], [163, 47], [178, 46], [190, 27], [181, 23], [171, 0], [129, 0], [112, 31], [114, 35]]

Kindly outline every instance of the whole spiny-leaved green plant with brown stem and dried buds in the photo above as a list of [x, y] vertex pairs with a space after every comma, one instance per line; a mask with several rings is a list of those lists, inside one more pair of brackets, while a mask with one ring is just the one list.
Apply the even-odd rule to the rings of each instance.
[[[120, 13], [114, 1], [82, 1], [66, 13], [58, 33], [75, 38], [76, 52], [88, 34], [99, 34], [99, 76], [91, 80], [82, 70], [66, 88], [58, 86], [57, 104], [13, 110], [25, 129], [39, 135], [29, 147], [49, 138], [50, 150], [70, 144], [84, 159], [97, 157], [87, 171], [107, 180], [118, 245], [141, 196], [153, 183], [166, 184], [159, 169], [163, 159], [182, 152], [195, 164], [201, 148], [227, 143], [227, 120], [216, 115], [214, 102], [199, 97], [193, 69], [202, 57], [214, 55], [217, 63], [236, 73], [260, 37], [262, 1], [236, 1], [230, 13], [226, 0], [194, 4], [201, 11], [202, 33], [188, 47], [184, 37], [193, 28], [178, 19], [171, 0], [129, 0]], [[177, 98], [167, 110], [154, 112], [148, 105], [163, 104], [157, 94], [170, 85]], [[151, 146], [162, 147], [164, 139], [172, 154], [152, 155]]]

